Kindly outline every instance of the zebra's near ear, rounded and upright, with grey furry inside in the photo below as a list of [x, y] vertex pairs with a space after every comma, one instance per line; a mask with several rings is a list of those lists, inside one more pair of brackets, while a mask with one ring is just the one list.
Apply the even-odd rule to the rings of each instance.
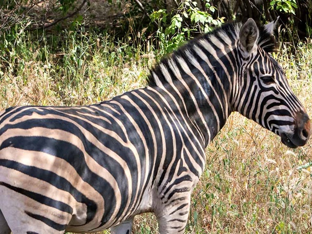
[[256, 44], [258, 39], [259, 30], [254, 20], [249, 18], [246, 23], [240, 28], [239, 31], [239, 41], [242, 49], [250, 54]]

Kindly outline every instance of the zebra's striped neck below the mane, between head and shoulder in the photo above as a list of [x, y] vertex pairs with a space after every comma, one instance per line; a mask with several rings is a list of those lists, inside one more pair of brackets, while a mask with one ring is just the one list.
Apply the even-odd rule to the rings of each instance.
[[[195, 65], [191, 66], [189, 62]], [[211, 66], [208, 66], [191, 56], [188, 56], [188, 60], [176, 58], [176, 61], [160, 63], [157, 74], [151, 74], [157, 87], [166, 91], [165, 96], [169, 93], [178, 100], [175, 105], [192, 120], [196, 131], [204, 139], [205, 147], [224, 126], [231, 113], [231, 77], [235, 77], [235, 74], [234, 71], [215, 69], [215, 63], [212, 61]], [[160, 75], [166, 82], [160, 82]]]

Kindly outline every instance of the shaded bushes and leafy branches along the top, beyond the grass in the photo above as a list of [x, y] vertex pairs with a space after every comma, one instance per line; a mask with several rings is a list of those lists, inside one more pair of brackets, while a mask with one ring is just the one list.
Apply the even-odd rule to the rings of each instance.
[[[53, 29], [59, 31], [73, 31], [83, 21], [100, 28], [107, 28], [112, 23], [109, 17], [104, 25], [95, 23], [96, 19], [92, 22], [93, 13], [89, 16], [86, 11], [79, 13], [81, 2], [85, 0], [3, 0], [0, 1], [0, 28], [5, 28], [3, 24], [14, 26], [14, 20], [25, 17], [30, 19], [28, 27], [31, 29], [44, 28], [52, 22], [55, 25]], [[87, 3], [89, 6], [95, 4], [90, 0]], [[280, 22], [300, 32], [300, 39], [309, 37], [312, 28], [312, 0], [301, 0], [300, 4], [298, 0], [108, 0], [103, 4], [109, 3], [113, 5], [112, 8], [123, 12], [117, 19], [118, 27], [111, 27], [113, 31], [116, 32], [117, 28], [127, 31], [128, 23], [132, 20], [137, 32], [147, 28], [145, 37], [155, 36], [156, 33], [161, 54], [171, 52], [186, 39], [197, 33], [208, 32], [225, 20], [253, 17], [267, 22], [281, 16]], [[36, 7], [41, 9], [39, 14], [34, 11]], [[288, 40], [293, 38], [289, 37]]]

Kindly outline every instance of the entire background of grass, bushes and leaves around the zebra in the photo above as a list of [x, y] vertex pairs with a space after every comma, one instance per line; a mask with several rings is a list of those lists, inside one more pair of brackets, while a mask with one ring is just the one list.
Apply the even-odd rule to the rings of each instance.
[[[2, 0], [0, 109], [112, 98], [143, 87], [159, 58], [199, 33], [277, 16], [273, 57], [311, 116], [312, 0]], [[136, 217], [134, 233], [156, 230], [154, 215]], [[233, 113], [207, 148], [186, 232], [312, 233], [311, 141], [289, 149]]]

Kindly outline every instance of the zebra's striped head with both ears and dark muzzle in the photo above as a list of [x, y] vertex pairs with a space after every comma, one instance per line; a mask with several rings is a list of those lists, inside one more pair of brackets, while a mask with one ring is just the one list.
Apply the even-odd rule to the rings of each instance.
[[237, 40], [240, 69], [234, 84], [234, 110], [281, 137], [291, 148], [303, 146], [310, 136], [310, 119], [292, 93], [282, 67], [270, 55], [275, 48], [276, 21], [258, 28], [249, 19]]

